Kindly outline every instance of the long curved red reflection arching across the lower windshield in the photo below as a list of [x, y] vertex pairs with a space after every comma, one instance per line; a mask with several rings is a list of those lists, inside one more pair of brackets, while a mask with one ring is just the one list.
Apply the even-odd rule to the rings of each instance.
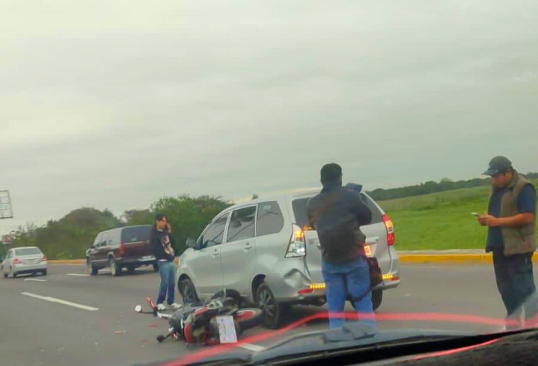
[[[348, 320], [357, 319], [375, 319], [376, 321], [438, 321], [438, 322], [459, 322], [459, 323], [473, 323], [479, 325], [489, 325], [502, 327], [519, 325], [516, 321], [505, 321], [505, 319], [487, 318], [486, 316], [465, 315], [465, 314], [449, 314], [449, 313], [387, 313], [387, 314], [364, 314], [357, 312], [344, 312], [334, 313], [331, 316], [336, 318], [344, 318]], [[329, 319], [329, 313], [317, 313], [299, 321], [292, 323], [284, 328], [278, 330], [272, 330], [247, 337], [237, 343], [220, 344], [219, 346], [207, 348], [199, 352], [186, 355], [168, 363], [165, 366], [181, 366], [188, 365], [194, 362], [200, 362], [208, 357], [224, 354], [235, 348], [241, 347], [243, 344], [257, 343], [270, 340], [282, 334], [286, 334], [290, 330], [305, 325], [306, 323], [314, 320], [327, 320]], [[513, 324], [512, 324], [513, 323]]]

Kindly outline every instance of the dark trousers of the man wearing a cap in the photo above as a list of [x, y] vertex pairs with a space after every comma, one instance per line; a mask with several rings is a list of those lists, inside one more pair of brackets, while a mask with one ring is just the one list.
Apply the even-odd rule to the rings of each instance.
[[502, 302], [506, 307], [508, 320], [519, 322], [523, 309], [525, 309], [527, 320], [538, 314], [532, 255], [532, 253], [525, 253], [505, 256], [502, 250], [493, 251], [495, 279]]

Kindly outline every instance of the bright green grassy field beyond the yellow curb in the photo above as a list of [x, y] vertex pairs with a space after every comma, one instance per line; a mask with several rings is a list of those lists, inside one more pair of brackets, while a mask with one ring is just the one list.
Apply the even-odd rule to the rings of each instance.
[[398, 250], [482, 249], [487, 229], [471, 212], [484, 213], [489, 194], [477, 187], [378, 203], [394, 222]]

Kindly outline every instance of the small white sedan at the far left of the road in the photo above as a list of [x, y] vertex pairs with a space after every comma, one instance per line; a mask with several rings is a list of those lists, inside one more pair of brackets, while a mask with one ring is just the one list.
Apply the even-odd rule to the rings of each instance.
[[8, 250], [2, 262], [4, 278], [15, 278], [23, 273], [47, 275], [47, 257], [38, 247], [21, 247]]

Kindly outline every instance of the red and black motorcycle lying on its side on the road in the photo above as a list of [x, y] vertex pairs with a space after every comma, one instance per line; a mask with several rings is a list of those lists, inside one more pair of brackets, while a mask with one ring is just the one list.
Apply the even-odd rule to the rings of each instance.
[[185, 304], [173, 313], [159, 312], [157, 305], [146, 298], [151, 311], [145, 312], [141, 305], [134, 307], [134, 311], [142, 314], [152, 314], [168, 321], [168, 334], [159, 335], [157, 341], [162, 342], [169, 337], [183, 340], [187, 343], [213, 346], [219, 344], [220, 332], [218, 316], [232, 316], [236, 335], [244, 330], [258, 325], [261, 321], [261, 310], [258, 308], [239, 308], [240, 295], [237, 291], [223, 290], [214, 294], [204, 302]]

